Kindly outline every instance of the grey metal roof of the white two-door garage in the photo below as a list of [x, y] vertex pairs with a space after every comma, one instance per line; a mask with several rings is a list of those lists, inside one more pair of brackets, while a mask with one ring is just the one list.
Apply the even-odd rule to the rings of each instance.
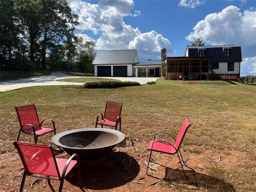
[[137, 50], [100, 50], [97, 52], [93, 65], [100, 64], [134, 64], [138, 62]]

